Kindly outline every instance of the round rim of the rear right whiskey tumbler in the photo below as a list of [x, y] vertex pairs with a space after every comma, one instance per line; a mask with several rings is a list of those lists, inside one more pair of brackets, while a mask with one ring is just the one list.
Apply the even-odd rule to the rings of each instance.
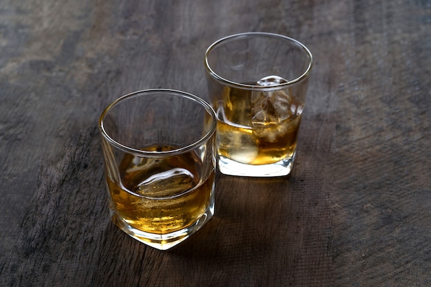
[[[208, 63], [208, 56], [211, 53], [211, 51], [218, 46], [220, 43], [224, 43], [225, 41], [228, 41], [230, 39], [233, 38], [244, 38], [246, 36], [262, 36], [262, 37], [268, 37], [268, 38], [277, 38], [277, 39], [283, 39], [289, 42], [293, 42], [296, 45], [298, 45], [299, 47], [302, 48], [302, 50], [305, 52], [305, 54], [307, 54], [308, 59], [310, 60], [308, 63], [308, 67], [306, 68], [306, 70], [304, 71], [304, 73], [302, 73], [301, 76], [291, 80], [291, 81], [287, 81], [286, 83], [282, 83], [282, 84], [277, 84], [277, 85], [271, 85], [271, 86], [261, 86], [261, 85], [247, 85], [247, 84], [243, 84], [243, 83], [236, 83], [234, 81], [229, 81], [227, 78], [223, 78], [222, 76], [219, 76], [217, 73], [215, 73], [213, 71], [213, 69], [211, 68], [211, 66]], [[268, 33], [268, 32], [245, 32], [245, 33], [239, 33], [239, 34], [232, 34], [229, 36], [225, 36], [221, 39], [218, 39], [217, 41], [215, 41], [214, 43], [212, 43], [211, 45], [209, 45], [209, 47], [207, 48], [207, 51], [205, 51], [204, 54], [204, 64], [205, 64], [205, 70], [207, 70], [207, 72], [213, 76], [213, 78], [215, 78], [216, 80], [227, 84], [231, 87], [238, 87], [238, 88], [242, 88], [242, 89], [257, 89], [257, 90], [261, 90], [261, 91], [269, 91], [269, 90], [273, 90], [273, 89], [282, 89], [284, 87], [288, 87], [291, 86], [295, 83], [298, 83], [299, 81], [304, 80], [304, 78], [306, 78], [310, 72], [311, 69], [313, 67], [313, 54], [311, 54], [310, 50], [308, 50], [308, 48], [302, 44], [301, 42], [288, 37], [288, 36], [284, 36], [284, 35], [280, 35], [280, 34], [275, 34], [275, 33]]]

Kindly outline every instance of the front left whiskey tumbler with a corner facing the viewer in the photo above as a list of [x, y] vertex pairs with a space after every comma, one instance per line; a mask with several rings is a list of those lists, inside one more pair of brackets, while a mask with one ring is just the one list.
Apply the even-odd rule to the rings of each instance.
[[171, 89], [127, 94], [103, 111], [109, 208], [121, 230], [165, 250], [213, 216], [215, 126], [208, 103]]

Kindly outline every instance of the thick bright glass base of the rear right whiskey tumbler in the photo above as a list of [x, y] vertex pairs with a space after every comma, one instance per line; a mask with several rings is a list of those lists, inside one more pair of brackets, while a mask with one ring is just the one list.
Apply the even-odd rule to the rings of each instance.
[[228, 176], [250, 176], [250, 177], [275, 177], [275, 176], [287, 176], [291, 173], [293, 161], [295, 160], [295, 153], [291, 158], [285, 158], [279, 162], [272, 164], [244, 164], [241, 162], [235, 162], [229, 158], [223, 156], [218, 157], [218, 169], [221, 173]]

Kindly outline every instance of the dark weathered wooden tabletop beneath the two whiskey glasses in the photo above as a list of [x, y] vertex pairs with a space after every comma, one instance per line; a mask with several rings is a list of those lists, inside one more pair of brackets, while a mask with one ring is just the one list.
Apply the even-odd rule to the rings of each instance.
[[[108, 218], [97, 129], [138, 89], [206, 98], [204, 50], [315, 56], [288, 178], [218, 175], [172, 251]], [[0, 1], [0, 286], [431, 286], [431, 2]]]

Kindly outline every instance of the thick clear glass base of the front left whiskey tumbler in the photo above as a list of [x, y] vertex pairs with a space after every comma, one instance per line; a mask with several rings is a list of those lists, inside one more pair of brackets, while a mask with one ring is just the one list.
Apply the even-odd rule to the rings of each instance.
[[139, 229], [134, 228], [133, 226], [127, 224], [115, 211], [111, 211], [111, 219], [112, 222], [118, 226], [122, 231], [133, 237], [134, 239], [142, 242], [143, 244], [147, 244], [148, 246], [160, 249], [167, 250], [172, 248], [184, 240], [187, 240], [190, 235], [198, 231], [205, 223], [207, 223], [214, 214], [214, 193], [211, 195], [210, 204], [207, 207], [207, 210], [196, 220], [195, 223], [191, 224], [191, 226], [187, 226], [179, 231], [175, 231], [167, 234], [154, 234], [147, 233], [144, 231], [140, 231]]

